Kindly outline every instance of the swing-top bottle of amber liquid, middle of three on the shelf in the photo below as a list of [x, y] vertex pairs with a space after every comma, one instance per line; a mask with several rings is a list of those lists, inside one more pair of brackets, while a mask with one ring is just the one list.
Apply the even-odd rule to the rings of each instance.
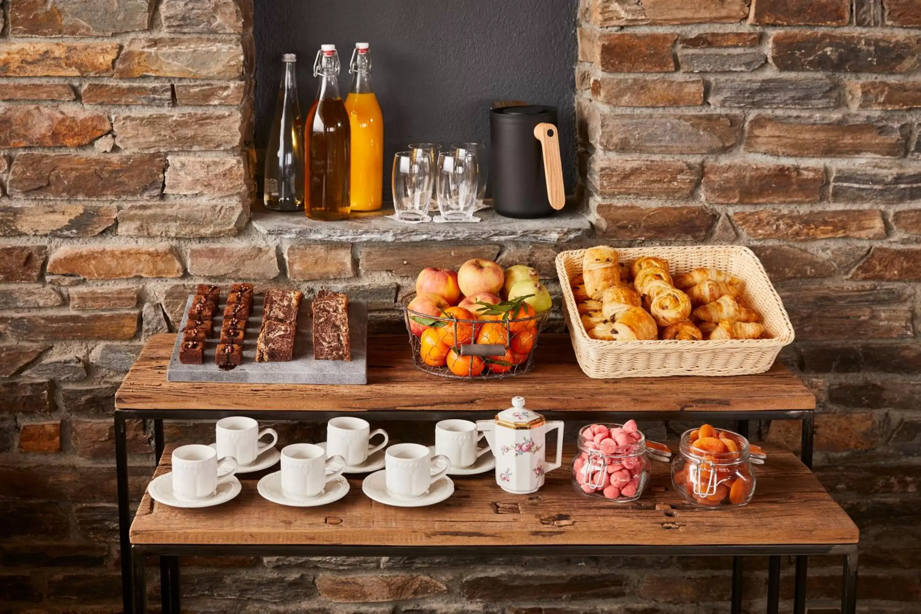
[[313, 64], [313, 75], [320, 77], [320, 88], [304, 124], [304, 211], [315, 220], [344, 220], [351, 208], [352, 136], [348, 111], [339, 96], [339, 55], [335, 45], [322, 45]]

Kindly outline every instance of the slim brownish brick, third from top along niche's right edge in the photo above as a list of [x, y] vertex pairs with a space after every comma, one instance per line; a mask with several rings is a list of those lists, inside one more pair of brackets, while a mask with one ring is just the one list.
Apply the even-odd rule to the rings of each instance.
[[617, 107], [694, 106], [704, 104], [704, 80], [603, 77], [592, 79], [591, 96]]

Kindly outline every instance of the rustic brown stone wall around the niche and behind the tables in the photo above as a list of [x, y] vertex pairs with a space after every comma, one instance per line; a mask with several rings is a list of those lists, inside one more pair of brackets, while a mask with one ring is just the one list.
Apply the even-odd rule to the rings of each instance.
[[[112, 395], [192, 284], [345, 289], [380, 330], [426, 265], [552, 276], [556, 251], [602, 239], [757, 251], [796, 325], [785, 360], [820, 400], [817, 473], [862, 529], [861, 608], [916, 608], [918, 0], [584, 0], [586, 214], [475, 232], [253, 205], [249, 0], [0, 4], [0, 610], [120, 611]], [[149, 424], [129, 436], [136, 496]], [[810, 561], [810, 605], [834, 606], [836, 564]], [[727, 608], [729, 562], [192, 559], [183, 582], [191, 612], [691, 613]]]

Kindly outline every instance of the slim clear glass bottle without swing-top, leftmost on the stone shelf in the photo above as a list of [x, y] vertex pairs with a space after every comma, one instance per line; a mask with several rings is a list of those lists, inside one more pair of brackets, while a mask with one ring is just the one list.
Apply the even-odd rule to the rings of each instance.
[[304, 208], [304, 126], [297, 103], [297, 55], [286, 53], [282, 62], [285, 75], [265, 149], [262, 201], [274, 211], [300, 211]]

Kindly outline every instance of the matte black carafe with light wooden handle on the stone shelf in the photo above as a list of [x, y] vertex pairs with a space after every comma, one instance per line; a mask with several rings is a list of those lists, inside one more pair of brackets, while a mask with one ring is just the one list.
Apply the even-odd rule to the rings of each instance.
[[[544, 217], [563, 207], [556, 109], [499, 107], [489, 113], [493, 209], [506, 217]], [[548, 180], [549, 178], [549, 180]]]

